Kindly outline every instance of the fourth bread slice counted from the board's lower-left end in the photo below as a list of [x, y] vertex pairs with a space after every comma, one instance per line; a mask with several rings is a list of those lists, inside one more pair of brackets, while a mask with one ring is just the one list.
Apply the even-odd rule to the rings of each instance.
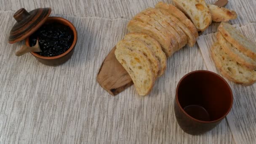
[[173, 49], [171, 51], [172, 51], [172, 53], [174, 53], [174, 51], [176, 49], [178, 49], [178, 46], [179, 46], [175, 37], [171, 34], [171, 32], [168, 31], [168, 29], [163, 27], [157, 20], [155, 20], [154, 18], [152, 18], [144, 13], [146, 13], [146, 11], [142, 11], [141, 13], [136, 14], [136, 16], [133, 17], [133, 19], [147, 23], [147, 24], [151, 25], [152, 27], [155, 27], [163, 35], [165, 35], [165, 37], [168, 37], [168, 39], [171, 40], [171, 45], [173, 46]]

